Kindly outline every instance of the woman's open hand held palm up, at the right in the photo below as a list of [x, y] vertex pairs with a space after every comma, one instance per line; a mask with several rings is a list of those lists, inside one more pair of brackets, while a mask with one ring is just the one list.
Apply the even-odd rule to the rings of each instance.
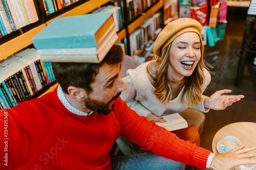
[[224, 110], [228, 106], [232, 105], [237, 101], [244, 98], [244, 95], [224, 95], [225, 93], [230, 93], [232, 90], [224, 89], [216, 91], [210, 97], [205, 98], [204, 108], [214, 109], [214, 110]]

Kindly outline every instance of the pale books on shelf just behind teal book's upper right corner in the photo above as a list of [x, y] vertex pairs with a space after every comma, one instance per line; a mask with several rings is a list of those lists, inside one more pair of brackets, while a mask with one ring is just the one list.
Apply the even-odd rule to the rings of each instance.
[[99, 13], [99, 12], [111, 12], [114, 18], [116, 32], [123, 29], [123, 21], [122, 21], [122, 14], [121, 14], [121, 7], [119, 6], [102, 6], [98, 9], [92, 11], [91, 13]]

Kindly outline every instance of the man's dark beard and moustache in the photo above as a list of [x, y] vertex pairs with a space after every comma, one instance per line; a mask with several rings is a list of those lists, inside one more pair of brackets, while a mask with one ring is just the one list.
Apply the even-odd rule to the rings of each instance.
[[105, 115], [109, 114], [111, 110], [113, 109], [114, 105], [110, 108], [110, 103], [113, 102], [118, 96], [121, 94], [121, 92], [118, 92], [108, 103], [99, 102], [97, 100], [88, 98], [87, 101], [84, 102], [84, 106], [86, 106], [88, 109], [91, 109], [98, 113], [103, 113]]

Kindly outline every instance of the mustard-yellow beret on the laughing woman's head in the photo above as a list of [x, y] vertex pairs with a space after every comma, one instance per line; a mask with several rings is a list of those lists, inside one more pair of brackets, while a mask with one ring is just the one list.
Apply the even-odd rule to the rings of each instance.
[[[201, 40], [202, 26], [200, 22], [191, 18], [179, 18], [169, 22], [165, 28], [159, 33], [155, 44], [154, 53], [161, 57], [162, 52], [174, 39], [186, 32], [195, 32]], [[202, 43], [202, 42], [201, 42]]]

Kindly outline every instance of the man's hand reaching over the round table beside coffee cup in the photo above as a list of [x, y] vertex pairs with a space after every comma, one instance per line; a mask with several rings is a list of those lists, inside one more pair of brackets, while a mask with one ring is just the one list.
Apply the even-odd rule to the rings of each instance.
[[256, 156], [256, 152], [250, 152], [255, 150], [256, 147], [244, 147], [245, 145], [242, 144], [230, 152], [216, 154], [214, 159], [212, 159], [210, 168], [215, 170], [230, 170], [239, 165], [256, 164], [256, 159], [250, 159]]

